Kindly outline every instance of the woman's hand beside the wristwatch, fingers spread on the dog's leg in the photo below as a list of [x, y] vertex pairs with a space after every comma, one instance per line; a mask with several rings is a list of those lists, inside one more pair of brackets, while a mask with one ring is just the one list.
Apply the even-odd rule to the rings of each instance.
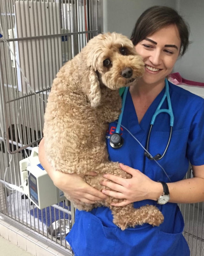
[[144, 199], [157, 200], [163, 193], [163, 187], [160, 182], [155, 182], [139, 170], [133, 169], [127, 165], [120, 164], [120, 168], [132, 175], [131, 179], [124, 179], [112, 174], [105, 174], [103, 177], [112, 180], [102, 181], [101, 185], [111, 188], [115, 191], [103, 189], [102, 193], [115, 198], [124, 199], [120, 203], [113, 203], [114, 206], [125, 206], [127, 204], [141, 201]]

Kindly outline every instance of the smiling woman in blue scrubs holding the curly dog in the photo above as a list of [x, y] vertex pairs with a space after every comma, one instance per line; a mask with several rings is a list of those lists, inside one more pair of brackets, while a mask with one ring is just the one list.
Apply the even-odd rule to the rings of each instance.
[[[142, 13], [133, 30], [131, 40], [143, 57], [145, 74], [128, 91], [121, 124], [144, 147], [152, 116], [165, 92], [165, 77], [171, 73], [178, 57], [186, 52], [188, 36], [184, 20], [176, 11], [164, 6], [154, 6]], [[120, 149], [111, 148], [109, 136], [117, 123], [110, 124], [107, 133], [110, 159], [125, 164], [120, 164], [120, 168], [132, 175], [128, 180], [106, 175], [108, 180], [115, 183], [101, 183], [116, 192], [106, 189], [101, 193], [89, 187], [77, 174], [54, 172], [45, 159], [43, 140], [40, 143], [41, 164], [55, 185], [76, 201], [91, 204], [109, 195], [125, 199], [115, 206], [134, 202], [135, 208], [138, 208], [153, 204], [164, 215], [164, 223], [159, 227], [144, 224], [121, 231], [113, 224], [111, 212], [106, 207], [91, 212], [76, 211], [75, 224], [67, 237], [76, 256], [190, 255], [182, 235], [184, 221], [177, 203], [204, 201], [204, 100], [171, 83], [168, 85], [174, 125], [169, 148], [164, 157], [158, 160], [164, 170], [144, 156], [144, 149], [122, 127], [124, 145]], [[166, 99], [162, 108], [168, 109]], [[161, 113], [156, 118], [149, 139], [148, 151], [152, 156], [163, 154], [169, 134], [169, 115]], [[183, 180], [189, 161], [193, 178]], [[164, 182], [165, 189], [168, 186], [170, 200], [166, 204], [157, 203], [163, 193], [167, 193], [163, 184], [157, 181]]]

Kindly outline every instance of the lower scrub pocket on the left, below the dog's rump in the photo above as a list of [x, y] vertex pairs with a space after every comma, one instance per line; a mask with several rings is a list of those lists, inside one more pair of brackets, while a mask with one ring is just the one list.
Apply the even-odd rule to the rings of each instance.
[[78, 212], [66, 240], [75, 256], [113, 256], [116, 228], [107, 228], [90, 212]]

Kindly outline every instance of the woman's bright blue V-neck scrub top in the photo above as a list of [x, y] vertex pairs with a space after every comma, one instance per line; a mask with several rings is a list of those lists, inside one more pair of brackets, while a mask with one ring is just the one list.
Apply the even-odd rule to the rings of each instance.
[[[135, 107], [128, 92], [122, 125], [125, 126], [145, 147], [151, 118], [160, 103], [165, 88], [152, 102], [138, 123]], [[172, 182], [182, 180], [189, 167], [204, 164], [204, 100], [169, 82], [169, 93], [174, 114], [171, 142], [165, 156], [158, 160]], [[114, 106], [113, 106], [114, 107]], [[162, 108], [168, 108], [167, 100]], [[118, 161], [138, 169], [150, 179], [169, 182], [166, 174], [155, 161], [144, 156], [144, 149], [122, 127], [124, 144], [119, 149], [109, 145], [109, 136], [115, 132], [117, 123], [109, 126], [106, 134], [107, 148], [111, 161]], [[153, 125], [149, 152], [152, 156], [164, 152], [170, 133], [170, 117], [166, 113], [157, 116]], [[190, 256], [187, 242], [182, 235], [184, 220], [177, 204], [157, 204], [153, 200], [135, 202], [156, 205], [164, 215], [159, 227], [149, 224], [122, 231], [113, 224], [109, 208], [98, 207], [91, 212], [76, 211], [75, 224], [66, 237], [76, 256]]]

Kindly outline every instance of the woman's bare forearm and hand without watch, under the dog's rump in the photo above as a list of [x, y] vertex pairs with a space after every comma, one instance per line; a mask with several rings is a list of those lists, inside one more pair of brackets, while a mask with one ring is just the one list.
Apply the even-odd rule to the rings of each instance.
[[[77, 203], [81, 201], [86, 204], [95, 204], [96, 201], [103, 201], [106, 198], [106, 195], [98, 191], [96, 188], [89, 186], [78, 174], [55, 171], [47, 161], [44, 139], [40, 141], [38, 153], [40, 163], [47, 171], [55, 186], [67, 193]], [[92, 176], [96, 175], [95, 172], [90, 172], [89, 174]]]

